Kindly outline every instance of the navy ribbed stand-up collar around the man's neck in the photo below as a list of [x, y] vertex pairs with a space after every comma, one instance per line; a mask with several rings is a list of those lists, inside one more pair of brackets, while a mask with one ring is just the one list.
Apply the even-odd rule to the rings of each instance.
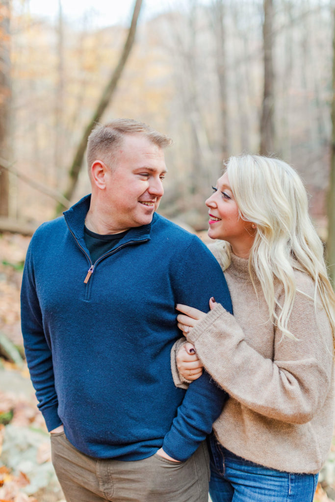
[[[90, 202], [91, 195], [85, 195], [85, 197], [71, 206], [70, 209], [63, 212], [66, 224], [77, 240], [84, 238], [85, 218], [89, 209]], [[120, 241], [120, 243], [127, 242], [128, 240], [150, 239], [151, 227], [157, 218], [157, 214], [154, 213], [151, 223], [149, 223], [148, 225], [131, 228], [129, 232], [127, 232], [125, 237]]]

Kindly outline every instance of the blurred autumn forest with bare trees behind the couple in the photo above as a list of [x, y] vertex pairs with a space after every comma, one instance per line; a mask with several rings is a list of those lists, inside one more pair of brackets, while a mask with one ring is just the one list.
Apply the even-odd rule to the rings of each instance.
[[[98, 14], [93, 3], [70, 18], [62, 0], [56, 16], [36, 14], [29, 0], [0, 0], [0, 352], [12, 360], [5, 370], [25, 371], [13, 350], [21, 350], [30, 235], [89, 192], [84, 151], [97, 120], [131, 117], [173, 138], [159, 212], [197, 232], [229, 156], [284, 159], [308, 190], [335, 277], [334, 0], [162, 0], [151, 10], [134, 0], [122, 22], [101, 23]], [[3, 395], [0, 418], [15, 417], [14, 402]], [[7, 486], [11, 476], [22, 482], [16, 474], [3, 472]], [[333, 478], [322, 479], [330, 496]], [[10, 495], [38, 496], [14, 488]], [[321, 487], [317, 496], [326, 497]]]

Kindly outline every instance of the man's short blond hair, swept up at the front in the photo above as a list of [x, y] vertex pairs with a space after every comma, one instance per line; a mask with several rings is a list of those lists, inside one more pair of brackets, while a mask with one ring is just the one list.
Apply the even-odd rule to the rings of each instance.
[[132, 118], [118, 118], [106, 124], [97, 123], [87, 141], [88, 170], [90, 171], [95, 160], [102, 160], [113, 169], [117, 161], [116, 149], [122, 144], [123, 137], [135, 134], [143, 135], [159, 148], [168, 147], [172, 143], [168, 136]]

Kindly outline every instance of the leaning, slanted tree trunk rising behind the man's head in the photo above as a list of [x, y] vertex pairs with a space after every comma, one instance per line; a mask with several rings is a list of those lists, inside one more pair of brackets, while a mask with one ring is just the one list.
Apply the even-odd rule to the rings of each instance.
[[[139, 18], [140, 10], [142, 6], [142, 0], [136, 0], [135, 6], [134, 6], [134, 11], [133, 11], [133, 18], [132, 22], [128, 31], [128, 37], [125, 42], [119, 63], [117, 67], [115, 68], [113, 74], [111, 75], [109, 82], [107, 83], [106, 87], [104, 88], [102, 95], [100, 97], [100, 100], [98, 102], [98, 105], [88, 122], [84, 133], [82, 135], [82, 138], [80, 140], [80, 143], [78, 145], [76, 154], [74, 156], [72, 165], [69, 169], [69, 180], [68, 180], [68, 185], [64, 193], [64, 197], [68, 200], [71, 200], [71, 197], [73, 195], [74, 189], [76, 187], [77, 181], [78, 181], [78, 176], [79, 172], [82, 166], [85, 150], [86, 150], [86, 145], [87, 145], [87, 139], [94, 127], [95, 122], [99, 121], [103, 112], [107, 108], [108, 104], [111, 101], [111, 98], [113, 97], [113, 94], [116, 90], [117, 84], [119, 82], [119, 79], [122, 75], [122, 72], [125, 68], [127, 59], [129, 57], [129, 54], [131, 52], [131, 49], [134, 44], [135, 40], [135, 33], [136, 33], [136, 26], [137, 26], [137, 21]], [[62, 210], [64, 209], [64, 206], [62, 204], [59, 204], [57, 207], [57, 214], [59, 214]]]

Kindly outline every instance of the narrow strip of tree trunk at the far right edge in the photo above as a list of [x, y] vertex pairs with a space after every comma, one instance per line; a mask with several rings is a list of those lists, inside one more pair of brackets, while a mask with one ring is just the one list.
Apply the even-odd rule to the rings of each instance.
[[335, 285], [335, 9], [333, 10], [334, 28], [332, 39], [332, 101], [331, 101], [331, 157], [328, 192], [328, 238], [327, 259], [332, 286]]

